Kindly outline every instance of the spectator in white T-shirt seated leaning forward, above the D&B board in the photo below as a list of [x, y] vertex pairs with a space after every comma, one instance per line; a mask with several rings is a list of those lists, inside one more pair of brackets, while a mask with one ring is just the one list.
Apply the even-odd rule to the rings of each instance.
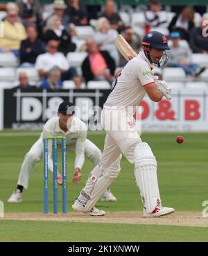
[[[46, 46], [46, 53], [40, 54], [35, 62], [35, 68], [40, 78], [46, 78], [49, 71], [53, 67], [58, 67], [61, 70], [61, 80], [73, 80], [74, 83], [82, 83], [78, 78], [75, 67], [69, 67], [69, 62], [63, 53], [58, 52], [59, 42], [50, 40]], [[76, 80], [74, 79], [76, 78]]]

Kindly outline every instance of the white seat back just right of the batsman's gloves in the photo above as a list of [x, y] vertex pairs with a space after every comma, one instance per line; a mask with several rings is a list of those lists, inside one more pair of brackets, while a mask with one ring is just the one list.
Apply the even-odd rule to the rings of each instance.
[[163, 69], [163, 79], [165, 81], [184, 81], [187, 79], [184, 69], [180, 67], [165, 67]]

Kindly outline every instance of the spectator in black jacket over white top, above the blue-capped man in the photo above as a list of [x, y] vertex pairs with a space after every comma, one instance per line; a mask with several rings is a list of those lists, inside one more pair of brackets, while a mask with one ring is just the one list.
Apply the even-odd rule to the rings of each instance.
[[175, 15], [175, 17], [173, 17], [168, 29], [170, 32], [179, 32], [181, 39], [189, 42], [189, 33], [194, 27], [193, 18], [193, 8], [191, 6], [184, 7], [179, 15]]

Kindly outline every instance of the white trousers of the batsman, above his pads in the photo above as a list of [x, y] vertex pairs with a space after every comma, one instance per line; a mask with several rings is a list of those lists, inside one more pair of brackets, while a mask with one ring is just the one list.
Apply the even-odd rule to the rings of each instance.
[[132, 114], [124, 107], [104, 106], [102, 111], [103, 128], [106, 131], [105, 145], [101, 157], [101, 167], [107, 169], [121, 153], [133, 163], [135, 147], [141, 138], [134, 125]]

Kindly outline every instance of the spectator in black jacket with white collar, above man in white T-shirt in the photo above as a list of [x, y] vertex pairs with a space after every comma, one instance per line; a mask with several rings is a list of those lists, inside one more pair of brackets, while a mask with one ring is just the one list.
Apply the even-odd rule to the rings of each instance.
[[58, 51], [67, 56], [69, 51], [75, 51], [76, 44], [71, 42], [71, 35], [62, 25], [61, 19], [58, 15], [51, 17], [50, 28], [44, 33], [44, 41], [47, 43], [49, 40], [58, 40], [60, 42]]

